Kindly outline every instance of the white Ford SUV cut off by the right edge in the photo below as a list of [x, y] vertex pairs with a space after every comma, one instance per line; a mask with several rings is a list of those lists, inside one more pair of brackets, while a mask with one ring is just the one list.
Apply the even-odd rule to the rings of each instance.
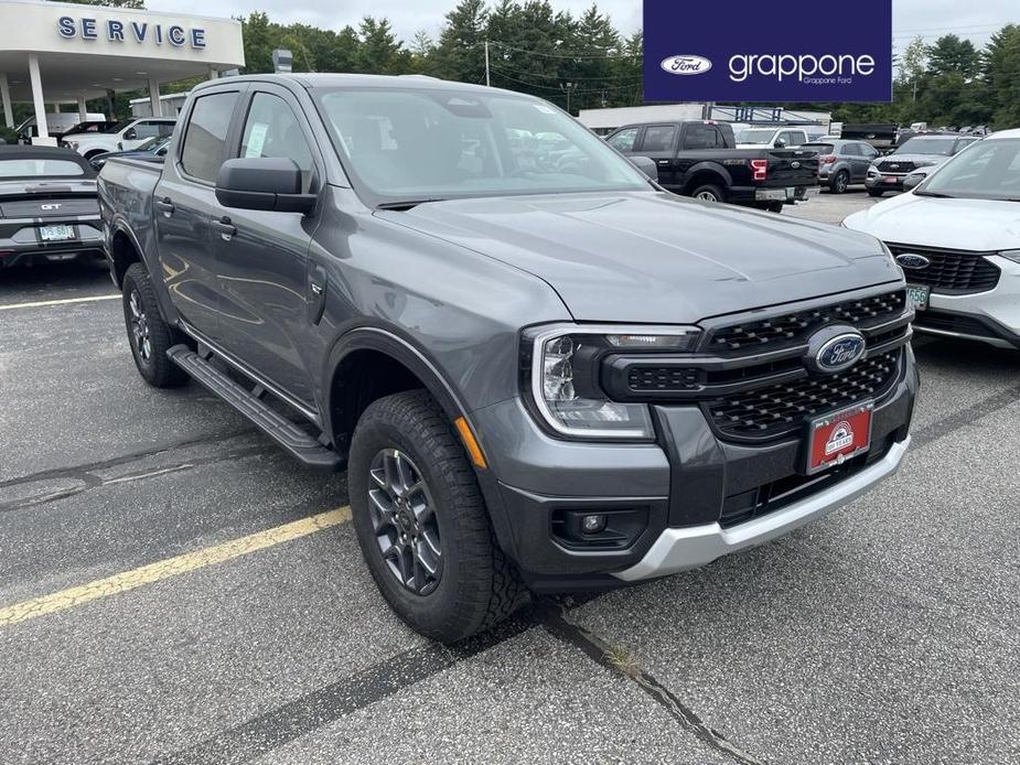
[[914, 328], [1020, 348], [1020, 130], [967, 147], [914, 190], [844, 220], [906, 276]]

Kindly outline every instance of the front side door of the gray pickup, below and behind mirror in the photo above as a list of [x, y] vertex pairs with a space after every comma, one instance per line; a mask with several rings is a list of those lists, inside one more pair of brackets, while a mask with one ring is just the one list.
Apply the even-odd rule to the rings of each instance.
[[[322, 184], [322, 159], [294, 96], [283, 87], [253, 85], [245, 97], [233, 157], [292, 159], [302, 193]], [[308, 252], [318, 214], [218, 206], [210, 216], [221, 301], [222, 348], [258, 370], [298, 402], [314, 397], [302, 343], [309, 317]]]

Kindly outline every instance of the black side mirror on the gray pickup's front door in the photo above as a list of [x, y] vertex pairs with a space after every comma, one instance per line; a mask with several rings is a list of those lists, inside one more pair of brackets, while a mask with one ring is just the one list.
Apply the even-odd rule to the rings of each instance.
[[223, 163], [216, 200], [224, 207], [308, 215], [316, 196], [301, 193], [301, 169], [292, 159], [256, 157]]

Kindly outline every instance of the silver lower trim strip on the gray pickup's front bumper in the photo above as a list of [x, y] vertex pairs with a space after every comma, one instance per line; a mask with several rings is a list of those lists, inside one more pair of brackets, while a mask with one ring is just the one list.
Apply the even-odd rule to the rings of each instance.
[[889, 453], [873, 465], [833, 488], [733, 528], [724, 529], [719, 524], [706, 524], [666, 529], [641, 561], [613, 575], [629, 582], [665, 577], [705, 565], [727, 553], [781, 537], [857, 499], [879, 481], [895, 473], [909, 445], [910, 437], [894, 443]]

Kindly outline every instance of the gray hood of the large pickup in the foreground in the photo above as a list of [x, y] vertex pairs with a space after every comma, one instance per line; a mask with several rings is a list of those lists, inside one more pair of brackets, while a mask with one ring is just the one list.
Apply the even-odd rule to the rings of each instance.
[[455, 200], [376, 215], [545, 280], [586, 322], [691, 323], [900, 279], [869, 236], [667, 193]]

